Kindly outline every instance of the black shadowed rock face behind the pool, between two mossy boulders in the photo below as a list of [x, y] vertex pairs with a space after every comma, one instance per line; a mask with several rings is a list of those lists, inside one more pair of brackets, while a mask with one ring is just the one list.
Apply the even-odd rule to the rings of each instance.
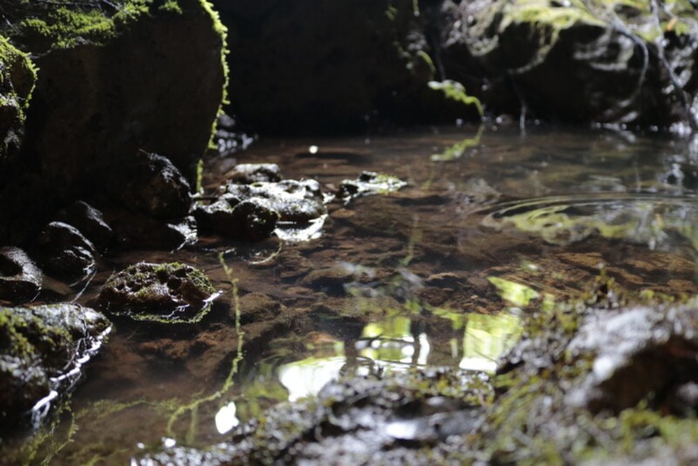
[[424, 120], [424, 105], [409, 111], [429, 94], [434, 72], [417, 2], [214, 5], [230, 29], [230, 108], [255, 129], [364, 130], [376, 118]]

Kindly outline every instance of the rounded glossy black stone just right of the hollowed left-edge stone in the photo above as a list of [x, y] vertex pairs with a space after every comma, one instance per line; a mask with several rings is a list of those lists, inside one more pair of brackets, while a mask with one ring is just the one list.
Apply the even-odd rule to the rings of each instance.
[[32, 256], [48, 274], [80, 282], [95, 270], [96, 250], [74, 226], [47, 224], [31, 248]]

